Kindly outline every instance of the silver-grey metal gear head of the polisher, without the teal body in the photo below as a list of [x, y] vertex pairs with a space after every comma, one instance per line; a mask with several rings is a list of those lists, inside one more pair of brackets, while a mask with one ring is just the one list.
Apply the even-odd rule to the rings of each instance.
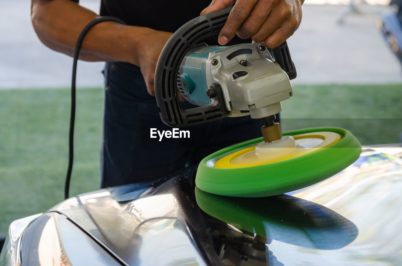
[[[213, 60], [218, 63], [214, 65]], [[281, 101], [292, 96], [289, 77], [258, 43], [210, 53], [205, 72], [208, 84], [221, 86], [229, 116], [247, 112], [252, 118], [275, 115], [282, 110]]]

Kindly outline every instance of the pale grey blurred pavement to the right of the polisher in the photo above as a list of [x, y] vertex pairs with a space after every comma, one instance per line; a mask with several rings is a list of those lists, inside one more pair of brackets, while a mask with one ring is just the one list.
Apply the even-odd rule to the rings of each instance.
[[378, 27], [389, 6], [357, 6], [363, 14], [338, 19], [349, 6], [306, 5], [299, 29], [289, 38], [297, 69], [293, 84], [401, 83], [402, 67]]

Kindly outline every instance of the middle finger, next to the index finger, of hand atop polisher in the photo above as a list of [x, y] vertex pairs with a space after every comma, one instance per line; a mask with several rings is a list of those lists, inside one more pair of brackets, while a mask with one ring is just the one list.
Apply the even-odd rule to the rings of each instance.
[[237, 36], [242, 39], [248, 39], [255, 35], [271, 13], [273, 2], [273, 0], [258, 1], [246, 21], [240, 26]]

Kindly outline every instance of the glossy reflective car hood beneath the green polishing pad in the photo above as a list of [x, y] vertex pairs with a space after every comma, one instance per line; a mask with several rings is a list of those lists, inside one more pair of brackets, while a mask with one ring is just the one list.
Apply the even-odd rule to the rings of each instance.
[[58, 265], [75, 265], [79, 250], [96, 265], [402, 265], [402, 148], [376, 149], [364, 148], [331, 178], [273, 197], [195, 190], [196, 168], [81, 194], [27, 227], [22, 261], [47, 265], [37, 254], [53, 232], [49, 241], [59, 244], [47, 256]]

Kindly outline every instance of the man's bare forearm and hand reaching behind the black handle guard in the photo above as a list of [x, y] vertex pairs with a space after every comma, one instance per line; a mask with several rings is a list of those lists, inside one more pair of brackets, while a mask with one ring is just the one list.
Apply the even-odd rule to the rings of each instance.
[[[82, 29], [99, 16], [70, 0], [32, 0], [31, 19], [39, 39], [49, 48], [72, 56]], [[71, 20], [74, 14], [74, 20]], [[123, 61], [138, 65], [147, 90], [155, 95], [154, 76], [159, 55], [172, 33], [115, 22], [94, 26], [84, 38], [80, 59]], [[180, 101], [185, 99], [179, 93]]]

